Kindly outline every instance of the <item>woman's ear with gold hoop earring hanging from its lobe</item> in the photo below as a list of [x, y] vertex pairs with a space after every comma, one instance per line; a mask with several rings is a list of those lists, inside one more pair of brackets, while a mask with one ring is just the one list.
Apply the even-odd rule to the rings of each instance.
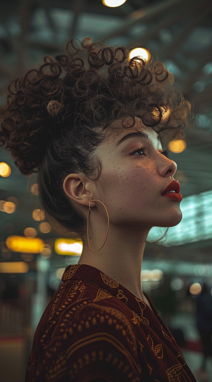
[[70, 199], [88, 207], [91, 202], [91, 207], [94, 207], [96, 204], [92, 202], [92, 199], [95, 198], [92, 191], [89, 191], [90, 187], [90, 180], [85, 177], [85, 175], [80, 174], [68, 174], [63, 182], [65, 194], [70, 197]]

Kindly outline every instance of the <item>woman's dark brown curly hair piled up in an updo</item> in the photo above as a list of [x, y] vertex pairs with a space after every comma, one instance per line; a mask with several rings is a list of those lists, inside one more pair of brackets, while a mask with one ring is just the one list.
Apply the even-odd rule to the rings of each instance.
[[83, 172], [98, 180], [96, 148], [116, 131], [120, 118], [123, 129], [132, 129], [139, 117], [157, 133], [184, 139], [193, 115], [162, 62], [129, 60], [126, 47], [89, 37], [68, 40], [65, 50], [55, 58], [44, 56], [43, 65], [11, 81], [0, 111], [0, 146], [22, 174], [37, 173], [39, 201], [52, 229], [83, 238], [86, 220], [64, 192], [66, 176]]

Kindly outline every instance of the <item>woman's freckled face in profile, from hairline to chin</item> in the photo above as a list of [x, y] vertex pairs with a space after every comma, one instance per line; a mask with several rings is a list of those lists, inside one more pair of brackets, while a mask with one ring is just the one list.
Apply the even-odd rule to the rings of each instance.
[[[121, 138], [138, 130], [146, 133], [148, 139], [137, 136], [118, 144]], [[177, 165], [161, 154], [163, 148], [157, 136], [136, 118], [131, 130], [122, 129], [119, 136], [99, 147], [102, 172], [98, 199], [105, 204], [110, 223], [134, 228], [173, 227], [181, 221], [180, 202], [161, 195], [174, 180]], [[142, 146], [147, 149], [141, 150]], [[132, 154], [137, 149], [140, 150]]]

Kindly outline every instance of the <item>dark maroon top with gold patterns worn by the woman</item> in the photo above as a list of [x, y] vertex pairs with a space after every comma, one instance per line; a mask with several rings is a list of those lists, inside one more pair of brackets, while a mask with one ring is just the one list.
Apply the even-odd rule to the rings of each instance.
[[196, 382], [152, 310], [87, 264], [68, 265], [34, 334], [25, 382]]

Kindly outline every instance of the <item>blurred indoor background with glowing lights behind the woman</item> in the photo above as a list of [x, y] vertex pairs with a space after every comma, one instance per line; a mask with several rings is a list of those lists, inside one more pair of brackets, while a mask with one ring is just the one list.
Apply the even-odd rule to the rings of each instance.
[[[204, 285], [212, 297], [212, 2], [121, 3], [0, 2], [0, 106], [12, 80], [41, 65], [44, 55], [65, 53], [72, 37], [142, 48], [131, 55], [148, 59], [150, 51], [153, 60], [163, 61], [173, 73], [174, 86], [196, 115], [186, 141], [167, 142], [169, 157], [178, 165], [183, 219], [169, 228], [163, 243], [146, 244], [141, 277], [195, 374], [203, 357], [197, 301]], [[164, 231], [153, 227], [147, 240], [157, 240]], [[22, 175], [0, 148], [0, 382], [24, 380], [38, 322], [61, 285], [65, 267], [78, 263], [82, 248], [82, 242], [51, 231], [39, 206], [36, 175]], [[206, 369], [212, 381], [212, 359]]]

